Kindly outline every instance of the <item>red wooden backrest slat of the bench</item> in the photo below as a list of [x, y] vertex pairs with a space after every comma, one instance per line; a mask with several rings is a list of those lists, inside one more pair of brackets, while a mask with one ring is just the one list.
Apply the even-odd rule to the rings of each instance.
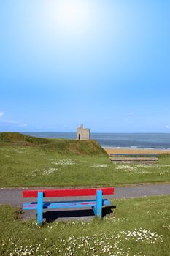
[[102, 190], [103, 195], [113, 195], [113, 187], [103, 187], [95, 189], [40, 189], [23, 190], [23, 197], [37, 197], [38, 191], [44, 192], [44, 197], [78, 197], [86, 195], [96, 195], [96, 190]]

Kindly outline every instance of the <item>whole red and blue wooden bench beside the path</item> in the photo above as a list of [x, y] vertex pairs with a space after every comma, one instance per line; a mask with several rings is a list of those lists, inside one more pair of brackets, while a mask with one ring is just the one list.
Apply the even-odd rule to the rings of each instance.
[[[42, 225], [43, 209], [56, 208], [84, 208], [91, 207], [96, 217], [102, 218], [102, 207], [112, 206], [103, 195], [113, 195], [113, 187], [91, 188], [91, 189], [43, 189], [43, 190], [23, 190], [24, 198], [37, 198], [37, 202], [23, 203], [24, 210], [36, 210], [37, 222]], [[71, 201], [43, 201], [45, 197], [89, 197], [96, 196], [93, 200], [71, 200]]]

